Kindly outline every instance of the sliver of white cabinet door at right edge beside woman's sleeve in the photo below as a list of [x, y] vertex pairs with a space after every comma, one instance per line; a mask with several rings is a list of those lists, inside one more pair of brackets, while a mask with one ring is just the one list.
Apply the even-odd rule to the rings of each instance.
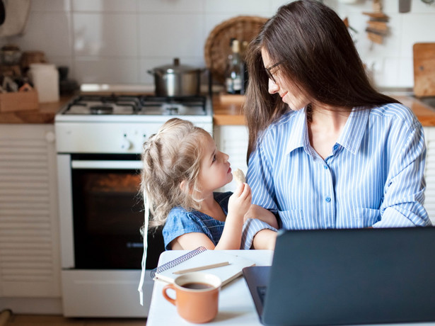
[[426, 208], [432, 224], [435, 225], [435, 127], [425, 127], [424, 138], [427, 147], [426, 167], [424, 169], [426, 177], [424, 208]]

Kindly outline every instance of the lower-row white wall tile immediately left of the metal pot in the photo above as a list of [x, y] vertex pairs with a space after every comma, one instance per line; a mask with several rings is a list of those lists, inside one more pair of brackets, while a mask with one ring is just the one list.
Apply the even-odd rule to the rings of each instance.
[[139, 64], [136, 59], [79, 57], [74, 64], [79, 84], [137, 84], [139, 81]]

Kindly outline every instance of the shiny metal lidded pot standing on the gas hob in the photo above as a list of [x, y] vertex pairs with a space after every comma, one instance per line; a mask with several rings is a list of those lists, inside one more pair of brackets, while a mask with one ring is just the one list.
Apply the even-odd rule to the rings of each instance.
[[180, 64], [178, 58], [174, 64], [149, 70], [154, 76], [156, 96], [195, 96], [199, 94], [203, 69]]

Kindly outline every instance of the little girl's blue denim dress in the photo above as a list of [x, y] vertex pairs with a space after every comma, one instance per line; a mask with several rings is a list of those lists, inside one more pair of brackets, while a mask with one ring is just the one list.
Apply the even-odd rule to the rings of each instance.
[[[228, 199], [233, 193], [213, 193], [214, 200], [219, 203], [225, 215], [228, 214]], [[211, 216], [197, 210], [185, 210], [175, 207], [170, 210], [168, 219], [163, 227], [163, 240], [166, 250], [170, 250], [170, 242], [180, 235], [199, 232], [207, 235], [214, 245], [217, 245], [224, 231], [225, 222], [215, 220]]]

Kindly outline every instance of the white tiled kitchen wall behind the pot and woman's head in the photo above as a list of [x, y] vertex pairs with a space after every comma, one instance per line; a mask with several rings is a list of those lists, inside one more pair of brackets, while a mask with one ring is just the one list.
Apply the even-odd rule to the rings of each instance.
[[[348, 0], [347, 0], [348, 1]], [[413, 85], [412, 44], [435, 42], [435, 4], [412, 0], [399, 13], [398, 0], [383, 0], [390, 35], [383, 45], [366, 38], [372, 1], [325, 0], [349, 18], [360, 55], [379, 86]], [[272, 16], [283, 0], [32, 0], [24, 35], [0, 38], [22, 50], [42, 50], [70, 67], [79, 83], [153, 84], [149, 69], [182, 63], [204, 67], [204, 43], [222, 21], [238, 15]]]

